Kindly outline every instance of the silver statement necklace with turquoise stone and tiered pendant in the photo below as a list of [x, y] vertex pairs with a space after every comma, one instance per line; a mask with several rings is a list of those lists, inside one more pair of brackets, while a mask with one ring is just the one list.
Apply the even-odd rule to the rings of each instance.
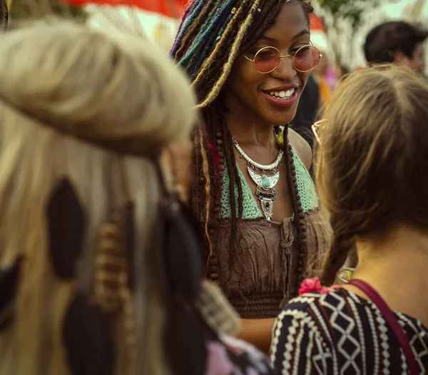
[[256, 163], [251, 159], [244, 150], [240, 148], [239, 143], [235, 138], [232, 138], [233, 144], [235, 145], [236, 150], [240, 153], [240, 157], [245, 159], [248, 164], [248, 173], [250, 174], [251, 179], [257, 185], [257, 190], [255, 195], [258, 196], [260, 200], [260, 205], [262, 206], [263, 214], [267, 220], [272, 220], [273, 213], [273, 202], [276, 198], [275, 185], [277, 185], [280, 180], [280, 171], [278, 170], [278, 165], [281, 164], [282, 155], [284, 154], [282, 150], [277, 155], [277, 158], [272, 164], [263, 165]]

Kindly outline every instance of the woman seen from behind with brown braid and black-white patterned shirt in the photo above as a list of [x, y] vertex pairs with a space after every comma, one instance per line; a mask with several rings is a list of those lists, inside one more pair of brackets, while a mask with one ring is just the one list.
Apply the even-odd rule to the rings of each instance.
[[[357, 71], [325, 115], [317, 187], [334, 241], [280, 313], [275, 374], [427, 374], [428, 86], [408, 68]], [[322, 287], [354, 249], [352, 279]]]

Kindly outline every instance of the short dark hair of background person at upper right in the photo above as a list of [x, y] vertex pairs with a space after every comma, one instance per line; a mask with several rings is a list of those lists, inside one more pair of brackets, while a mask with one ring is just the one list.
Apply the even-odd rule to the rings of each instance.
[[402, 21], [386, 22], [376, 26], [367, 35], [364, 51], [367, 63], [392, 63], [397, 52], [401, 51], [412, 58], [418, 43], [428, 37], [427, 31]]

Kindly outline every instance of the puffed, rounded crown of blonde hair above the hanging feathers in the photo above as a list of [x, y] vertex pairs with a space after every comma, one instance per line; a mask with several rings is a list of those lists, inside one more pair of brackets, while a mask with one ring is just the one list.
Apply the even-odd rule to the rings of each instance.
[[193, 94], [161, 50], [70, 24], [34, 30], [1, 37], [3, 101], [60, 132], [136, 155], [187, 135], [173, 113], [194, 116]]

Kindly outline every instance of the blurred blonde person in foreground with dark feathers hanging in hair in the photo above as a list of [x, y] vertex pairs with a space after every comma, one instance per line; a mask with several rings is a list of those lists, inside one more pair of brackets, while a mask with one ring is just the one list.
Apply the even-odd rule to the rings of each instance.
[[269, 373], [202, 282], [174, 183], [196, 101], [163, 55], [73, 24], [1, 36], [1, 375]]

